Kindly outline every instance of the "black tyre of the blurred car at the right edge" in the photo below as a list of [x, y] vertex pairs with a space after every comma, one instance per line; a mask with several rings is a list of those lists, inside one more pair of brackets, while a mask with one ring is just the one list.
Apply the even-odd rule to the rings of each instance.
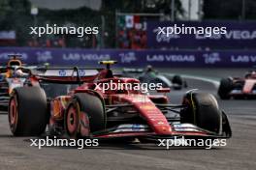
[[223, 78], [220, 80], [218, 95], [220, 99], [230, 99], [229, 93], [232, 91], [233, 83], [230, 78]]

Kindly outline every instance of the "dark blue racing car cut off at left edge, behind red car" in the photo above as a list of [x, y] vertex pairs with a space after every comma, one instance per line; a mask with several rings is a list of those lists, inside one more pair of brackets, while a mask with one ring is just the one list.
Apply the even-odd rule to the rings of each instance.
[[28, 83], [31, 70], [22, 66], [17, 55], [11, 55], [7, 66], [0, 68], [0, 107], [8, 106], [10, 94], [16, 87]]

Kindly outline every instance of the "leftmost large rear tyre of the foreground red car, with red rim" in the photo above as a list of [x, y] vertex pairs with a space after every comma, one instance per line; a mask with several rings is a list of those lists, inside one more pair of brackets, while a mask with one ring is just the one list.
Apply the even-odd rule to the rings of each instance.
[[8, 108], [9, 125], [15, 136], [39, 136], [48, 124], [48, 102], [40, 87], [18, 87]]

